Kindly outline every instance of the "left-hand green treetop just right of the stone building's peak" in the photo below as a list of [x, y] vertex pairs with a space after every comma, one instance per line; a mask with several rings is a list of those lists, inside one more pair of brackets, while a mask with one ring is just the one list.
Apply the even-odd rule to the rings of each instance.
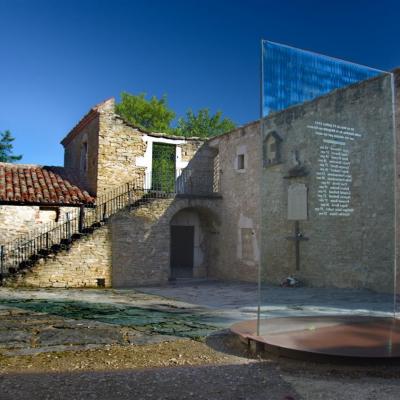
[[145, 131], [171, 133], [171, 122], [175, 113], [167, 105], [167, 97], [152, 97], [146, 100], [146, 94], [133, 95], [121, 93], [121, 102], [115, 111], [127, 122]]

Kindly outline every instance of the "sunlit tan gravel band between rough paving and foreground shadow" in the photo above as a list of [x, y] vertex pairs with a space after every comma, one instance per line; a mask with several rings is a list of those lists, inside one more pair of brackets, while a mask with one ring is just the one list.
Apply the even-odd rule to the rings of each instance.
[[101, 349], [38, 353], [28, 356], [0, 355], [0, 374], [237, 364], [244, 360], [215, 351], [205, 343], [187, 339], [142, 346], [111, 345]]

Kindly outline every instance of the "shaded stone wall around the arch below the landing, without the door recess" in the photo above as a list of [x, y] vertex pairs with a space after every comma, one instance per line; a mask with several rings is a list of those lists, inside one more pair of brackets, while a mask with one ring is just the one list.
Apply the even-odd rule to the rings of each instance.
[[[213, 276], [220, 255], [220, 202], [220, 199], [156, 199], [114, 216], [111, 221], [113, 286], [168, 281], [171, 276], [170, 224], [182, 210], [196, 213], [202, 228], [201, 260], [195, 259], [194, 275]], [[197, 256], [200, 257], [199, 252]]]

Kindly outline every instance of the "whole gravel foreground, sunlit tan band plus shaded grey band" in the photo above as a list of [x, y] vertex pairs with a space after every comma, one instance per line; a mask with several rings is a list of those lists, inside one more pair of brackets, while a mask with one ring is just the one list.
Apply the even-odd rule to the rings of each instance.
[[400, 365], [260, 360], [229, 334], [205, 343], [0, 358], [0, 399], [398, 400]]

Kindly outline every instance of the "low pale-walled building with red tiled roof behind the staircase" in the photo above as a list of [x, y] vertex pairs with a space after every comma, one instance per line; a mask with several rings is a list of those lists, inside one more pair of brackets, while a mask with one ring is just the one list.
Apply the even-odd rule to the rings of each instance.
[[0, 243], [63, 221], [94, 201], [61, 168], [0, 163]]

